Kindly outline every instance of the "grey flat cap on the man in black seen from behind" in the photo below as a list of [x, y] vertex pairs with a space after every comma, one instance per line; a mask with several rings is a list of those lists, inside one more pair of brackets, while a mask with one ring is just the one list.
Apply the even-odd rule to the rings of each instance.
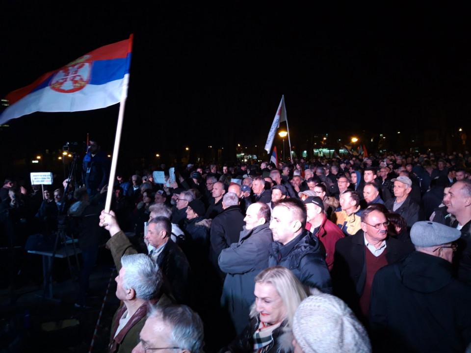
[[454, 242], [461, 232], [436, 222], [420, 221], [411, 228], [411, 240], [415, 246], [427, 248]]

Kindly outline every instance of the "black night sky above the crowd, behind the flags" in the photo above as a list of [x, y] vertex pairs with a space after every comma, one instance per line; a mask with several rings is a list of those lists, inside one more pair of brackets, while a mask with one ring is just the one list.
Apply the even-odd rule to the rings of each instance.
[[[74, 4], [5, 2], [0, 96], [134, 33], [123, 153], [262, 145], [282, 94], [293, 144], [307, 131], [469, 125], [464, 9]], [[16, 119], [0, 147], [57, 149], [86, 132], [111, 146], [117, 110]]]

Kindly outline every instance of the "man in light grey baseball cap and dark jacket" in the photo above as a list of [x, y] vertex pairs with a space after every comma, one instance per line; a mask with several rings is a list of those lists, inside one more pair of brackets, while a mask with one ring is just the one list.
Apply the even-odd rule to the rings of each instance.
[[419, 221], [420, 206], [409, 195], [412, 191], [412, 180], [407, 176], [398, 176], [391, 180], [394, 183], [394, 197], [385, 202], [390, 212], [399, 213], [407, 222], [407, 227], [412, 227]]

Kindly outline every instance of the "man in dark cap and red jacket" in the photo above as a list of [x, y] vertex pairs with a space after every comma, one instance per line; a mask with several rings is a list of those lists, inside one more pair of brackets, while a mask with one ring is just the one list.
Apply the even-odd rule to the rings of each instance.
[[313, 233], [325, 248], [325, 262], [329, 271], [334, 266], [335, 243], [345, 235], [332, 221], [327, 219], [324, 212], [324, 202], [317, 196], [309, 196], [303, 201], [306, 205], [306, 229]]

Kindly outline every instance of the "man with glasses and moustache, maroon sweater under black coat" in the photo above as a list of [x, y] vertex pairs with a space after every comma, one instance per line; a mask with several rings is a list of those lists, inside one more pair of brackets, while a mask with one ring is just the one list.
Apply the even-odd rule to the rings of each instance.
[[374, 275], [413, 249], [407, 243], [388, 237], [389, 221], [375, 207], [363, 211], [360, 226], [356, 234], [337, 241], [332, 279], [334, 293], [365, 322]]

